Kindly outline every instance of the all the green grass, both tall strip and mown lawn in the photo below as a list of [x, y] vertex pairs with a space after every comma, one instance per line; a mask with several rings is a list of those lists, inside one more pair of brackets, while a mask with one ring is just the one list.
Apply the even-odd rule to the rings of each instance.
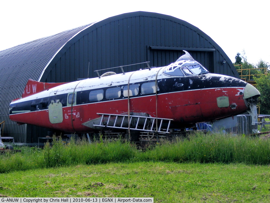
[[269, 202], [270, 140], [194, 134], [138, 149], [53, 139], [0, 155], [0, 197], [153, 197], [155, 202]]

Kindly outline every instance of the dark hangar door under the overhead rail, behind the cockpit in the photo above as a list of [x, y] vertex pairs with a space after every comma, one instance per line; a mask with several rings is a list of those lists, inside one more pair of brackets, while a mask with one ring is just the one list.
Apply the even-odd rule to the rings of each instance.
[[[214, 72], [213, 51], [187, 51], [193, 59], [202, 64], [208, 71]], [[155, 46], [150, 46], [148, 53], [148, 61], [150, 61], [150, 66], [153, 67], [167, 66], [184, 54], [183, 50], [158, 49]]]

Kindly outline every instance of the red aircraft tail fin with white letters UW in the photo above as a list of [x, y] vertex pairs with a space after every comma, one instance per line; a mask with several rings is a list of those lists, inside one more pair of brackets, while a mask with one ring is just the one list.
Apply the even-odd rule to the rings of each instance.
[[42, 92], [50, 88], [57, 87], [62, 84], [66, 84], [66, 83], [68, 82], [48, 83], [48, 82], [38, 82], [38, 81], [29, 79], [25, 85], [21, 98], [28, 97], [38, 92]]

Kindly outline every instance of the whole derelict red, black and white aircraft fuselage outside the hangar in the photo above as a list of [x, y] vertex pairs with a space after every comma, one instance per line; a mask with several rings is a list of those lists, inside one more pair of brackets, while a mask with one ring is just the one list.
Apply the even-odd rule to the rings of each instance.
[[256, 129], [259, 91], [240, 79], [209, 73], [184, 52], [165, 67], [147, 63], [148, 68], [127, 73], [121, 67], [120, 74], [97, 71], [99, 77], [68, 83], [29, 79], [22, 96], [12, 100], [9, 118], [71, 133], [108, 128], [169, 133], [248, 111]]

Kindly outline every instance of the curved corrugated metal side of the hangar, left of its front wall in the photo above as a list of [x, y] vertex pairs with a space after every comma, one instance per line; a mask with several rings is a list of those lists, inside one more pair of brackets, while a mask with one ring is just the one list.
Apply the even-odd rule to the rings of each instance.
[[[30, 138], [25, 136], [26, 125], [18, 126], [9, 120], [9, 103], [22, 95], [29, 78], [39, 80], [42, 70], [58, 50], [87, 26], [0, 51], [0, 122], [5, 121], [2, 136], [14, 137], [15, 142], [32, 142], [32, 135], [29, 134]], [[42, 136], [43, 131], [40, 130], [38, 136]]]

